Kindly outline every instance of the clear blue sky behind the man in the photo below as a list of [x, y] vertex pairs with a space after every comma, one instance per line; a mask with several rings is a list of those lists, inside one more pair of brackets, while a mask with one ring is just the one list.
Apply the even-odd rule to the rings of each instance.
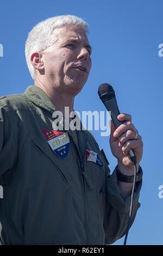
[[[160, 0], [55, 1], [0, 0], [0, 95], [23, 93], [30, 78], [24, 56], [28, 32], [48, 17], [72, 14], [89, 23], [93, 48], [92, 70], [83, 91], [77, 96], [78, 111], [102, 111], [99, 84], [110, 83], [117, 95], [121, 112], [130, 113], [143, 137], [143, 187], [139, 209], [130, 229], [128, 245], [163, 244], [163, 199], [158, 187], [163, 185], [162, 168], [162, 82], [163, 57], [158, 45], [163, 43], [163, 2]], [[111, 155], [109, 138], [93, 131], [104, 148], [111, 170], [116, 159]], [[115, 244], [122, 245], [123, 239]]]

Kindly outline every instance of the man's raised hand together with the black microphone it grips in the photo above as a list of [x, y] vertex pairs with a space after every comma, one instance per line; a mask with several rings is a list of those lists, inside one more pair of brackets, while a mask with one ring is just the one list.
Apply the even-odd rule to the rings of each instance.
[[[110, 148], [125, 175], [134, 171], [133, 163], [139, 166], [143, 143], [138, 131], [131, 123], [129, 114], [120, 114], [114, 89], [108, 83], [101, 84], [98, 95], [108, 111], [111, 112]], [[138, 169], [138, 168], [137, 168]], [[133, 173], [132, 173], [133, 174]]]

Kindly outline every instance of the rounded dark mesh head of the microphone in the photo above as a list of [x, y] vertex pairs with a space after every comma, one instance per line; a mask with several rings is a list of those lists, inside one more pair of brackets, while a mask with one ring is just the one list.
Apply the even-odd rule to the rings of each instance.
[[102, 83], [98, 87], [98, 95], [100, 99], [104, 102], [106, 100], [112, 99], [112, 97], [115, 97], [115, 92], [109, 83]]

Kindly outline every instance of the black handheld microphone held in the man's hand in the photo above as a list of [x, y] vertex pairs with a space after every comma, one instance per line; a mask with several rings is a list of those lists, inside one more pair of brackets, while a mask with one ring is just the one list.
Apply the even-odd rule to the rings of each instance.
[[[117, 119], [117, 116], [120, 114], [120, 111], [117, 105], [115, 91], [112, 88], [112, 86], [110, 86], [109, 83], [101, 84], [98, 88], [98, 95], [104, 103], [106, 109], [111, 112], [111, 118], [115, 127], [117, 128], [121, 124], [125, 123], [125, 121], [119, 121]], [[136, 157], [132, 149], [130, 149], [129, 151], [129, 156], [133, 164], [136, 164]]]

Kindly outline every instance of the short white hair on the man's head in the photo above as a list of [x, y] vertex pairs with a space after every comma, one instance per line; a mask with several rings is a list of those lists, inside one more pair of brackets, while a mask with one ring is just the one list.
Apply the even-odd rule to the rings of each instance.
[[89, 33], [87, 23], [83, 19], [73, 15], [51, 17], [37, 23], [37, 25], [33, 27], [32, 31], [29, 32], [25, 46], [25, 54], [27, 66], [33, 79], [35, 69], [30, 62], [30, 56], [32, 53], [41, 52], [54, 44], [56, 41], [55, 33], [53, 33], [55, 28], [60, 28], [71, 24], [82, 28], [85, 33]]

